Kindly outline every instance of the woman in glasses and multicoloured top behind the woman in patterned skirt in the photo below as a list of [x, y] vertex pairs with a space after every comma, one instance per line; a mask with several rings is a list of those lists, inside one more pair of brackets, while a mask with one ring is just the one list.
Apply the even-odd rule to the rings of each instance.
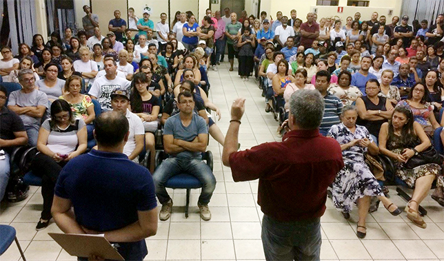
[[414, 121], [423, 127], [425, 134], [433, 137], [434, 130], [440, 127], [433, 113], [433, 106], [426, 102], [429, 91], [423, 83], [416, 83], [410, 89], [407, 100], [400, 101], [398, 105], [408, 107], [413, 114]]

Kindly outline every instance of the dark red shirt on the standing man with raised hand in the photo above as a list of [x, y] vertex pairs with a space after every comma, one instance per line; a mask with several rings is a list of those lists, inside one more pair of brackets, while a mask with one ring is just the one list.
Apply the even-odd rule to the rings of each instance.
[[327, 187], [344, 163], [339, 143], [311, 129], [235, 152], [230, 166], [236, 182], [259, 178], [258, 204], [265, 215], [291, 222], [323, 215]]

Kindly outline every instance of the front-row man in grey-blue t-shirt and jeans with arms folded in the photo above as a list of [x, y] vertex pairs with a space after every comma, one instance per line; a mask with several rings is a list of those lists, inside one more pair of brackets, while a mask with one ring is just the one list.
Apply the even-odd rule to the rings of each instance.
[[165, 183], [172, 176], [187, 173], [195, 176], [203, 185], [197, 205], [201, 218], [210, 220], [208, 203], [216, 187], [216, 179], [201, 158], [201, 153], [207, 148], [207, 124], [201, 116], [193, 113], [194, 96], [190, 92], [181, 92], [177, 100], [180, 112], [168, 118], [163, 130], [163, 145], [170, 158], [164, 160], [152, 176], [157, 198], [162, 204], [159, 218], [168, 220], [171, 215], [172, 200], [165, 189]]

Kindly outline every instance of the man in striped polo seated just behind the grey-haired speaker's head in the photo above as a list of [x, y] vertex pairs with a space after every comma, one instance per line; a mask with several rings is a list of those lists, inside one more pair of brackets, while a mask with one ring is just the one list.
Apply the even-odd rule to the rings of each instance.
[[341, 123], [341, 120], [339, 119], [343, 107], [341, 100], [327, 92], [331, 77], [329, 72], [325, 70], [319, 71], [316, 73], [316, 83], [314, 85], [316, 90], [321, 92], [321, 95], [324, 97], [325, 110], [321, 126], [319, 127], [319, 133], [323, 136], [327, 134], [328, 129], [330, 129], [332, 125]]

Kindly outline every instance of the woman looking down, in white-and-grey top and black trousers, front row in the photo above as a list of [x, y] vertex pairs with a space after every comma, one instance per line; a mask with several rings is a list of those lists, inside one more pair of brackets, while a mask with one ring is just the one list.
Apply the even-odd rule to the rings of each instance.
[[69, 160], [85, 152], [87, 134], [82, 119], [75, 119], [67, 101], [56, 100], [51, 105], [51, 118], [40, 127], [37, 149], [31, 163], [32, 173], [42, 178], [43, 211], [37, 231], [48, 227], [54, 187], [61, 169]]

